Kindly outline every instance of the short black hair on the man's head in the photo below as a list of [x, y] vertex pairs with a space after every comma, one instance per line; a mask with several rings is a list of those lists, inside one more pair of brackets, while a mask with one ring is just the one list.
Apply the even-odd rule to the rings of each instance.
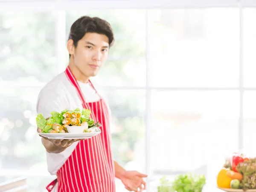
[[72, 39], [76, 47], [78, 41], [81, 40], [86, 33], [105, 34], [108, 37], [109, 46], [112, 46], [114, 43], [114, 34], [111, 25], [99, 17], [80, 17], [72, 24], [68, 39]]

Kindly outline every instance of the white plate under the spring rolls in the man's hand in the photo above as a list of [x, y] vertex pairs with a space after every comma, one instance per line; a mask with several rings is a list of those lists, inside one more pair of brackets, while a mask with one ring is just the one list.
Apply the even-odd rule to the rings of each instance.
[[39, 135], [48, 139], [89, 139], [101, 132], [89, 133], [38, 133]]

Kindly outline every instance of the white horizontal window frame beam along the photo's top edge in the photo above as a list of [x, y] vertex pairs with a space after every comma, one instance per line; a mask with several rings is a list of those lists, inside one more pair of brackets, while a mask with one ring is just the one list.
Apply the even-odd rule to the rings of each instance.
[[[251, 0], [253, 1], [253, 0]], [[236, 7], [239, 0], [0, 0], [0, 10], [169, 9]]]

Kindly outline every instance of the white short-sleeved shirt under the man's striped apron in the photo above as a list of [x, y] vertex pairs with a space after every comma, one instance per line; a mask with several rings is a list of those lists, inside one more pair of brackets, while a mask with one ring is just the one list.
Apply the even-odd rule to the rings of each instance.
[[[96, 102], [100, 100], [99, 95], [102, 97], [103, 92], [102, 90], [99, 90], [99, 87], [95, 86], [95, 83], [93, 83], [93, 86], [99, 95], [96, 93], [90, 83], [81, 83], [80, 81], [77, 82], [84, 94], [84, 99], [86, 102]], [[70, 83], [64, 72], [54, 77], [39, 93], [37, 113], [42, 113], [45, 118], [50, 117], [50, 113], [52, 111], [61, 112], [64, 109], [74, 110], [76, 108], [82, 109], [83, 106], [76, 88]], [[58, 169], [60, 169], [65, 163], [67, 158], [76, 148], [77, 144], [78, 142], [73, 143], [61, 153], [46, 152], [47, 167], [51, 175], [56, 175]]]

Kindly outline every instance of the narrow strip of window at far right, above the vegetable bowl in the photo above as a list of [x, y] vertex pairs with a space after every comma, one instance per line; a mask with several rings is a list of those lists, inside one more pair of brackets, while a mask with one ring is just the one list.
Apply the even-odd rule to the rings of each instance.
[[244, 110], [244, 149], [253, 150], [253, 135], [255, 134], [256, 126], [256, 77], [253, 71], [256, 70], [256, 9], [246, 8], [244, 9], [244, 33], [243, 33], [243, 80], [244, 80], [244, 91], [243, 95], [243, 110]]

